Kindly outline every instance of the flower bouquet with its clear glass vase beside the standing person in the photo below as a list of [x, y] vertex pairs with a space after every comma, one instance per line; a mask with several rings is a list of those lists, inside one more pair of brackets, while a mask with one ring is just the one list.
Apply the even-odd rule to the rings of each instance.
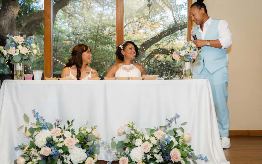
[[196, 45], [189, 41], [182, 47], [176, 47], [172, 58], [177, 62], [183, 60], [183, 79], [193, 79], [193, 60], [201, 60]]

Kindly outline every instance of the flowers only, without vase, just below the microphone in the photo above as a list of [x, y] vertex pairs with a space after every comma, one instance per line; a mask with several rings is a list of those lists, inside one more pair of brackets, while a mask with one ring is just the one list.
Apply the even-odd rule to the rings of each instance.
[[201, 55], [192, 41], [187, 42], [182, 47], [176, 47], [172, 57], [177, 62], [179, 60], [183, 60], [185, 62], [192, 61], [193, 59], [201, 60]]

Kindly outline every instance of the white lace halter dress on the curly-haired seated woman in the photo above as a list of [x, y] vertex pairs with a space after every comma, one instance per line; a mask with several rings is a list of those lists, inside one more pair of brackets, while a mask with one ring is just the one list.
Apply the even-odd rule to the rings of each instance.
[[115, 77], [141, 77], [140, 70], [134, 65], [134, 63], [129, 65], [122, 65], [116, 71]]

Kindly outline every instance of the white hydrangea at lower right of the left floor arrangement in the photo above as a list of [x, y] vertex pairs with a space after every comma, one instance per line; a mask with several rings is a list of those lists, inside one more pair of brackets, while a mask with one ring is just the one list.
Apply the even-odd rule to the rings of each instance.
[[73, 149], [69, 149], [68, 151], [70, 153], [69, 157], [74, 164], [83, 163], [87, 157], [83, 149], [80, 147], [75, 146]]

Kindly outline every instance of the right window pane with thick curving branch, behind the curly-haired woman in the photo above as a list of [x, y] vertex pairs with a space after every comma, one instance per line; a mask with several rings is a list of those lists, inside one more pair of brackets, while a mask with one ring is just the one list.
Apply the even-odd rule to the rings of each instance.
[[187, 41], [187, 0], [124, 0], [124, 40], [138, 45], [136, 62], [148, 74], [181, 77], [182, 62], [172, 60], [172, 48]]

